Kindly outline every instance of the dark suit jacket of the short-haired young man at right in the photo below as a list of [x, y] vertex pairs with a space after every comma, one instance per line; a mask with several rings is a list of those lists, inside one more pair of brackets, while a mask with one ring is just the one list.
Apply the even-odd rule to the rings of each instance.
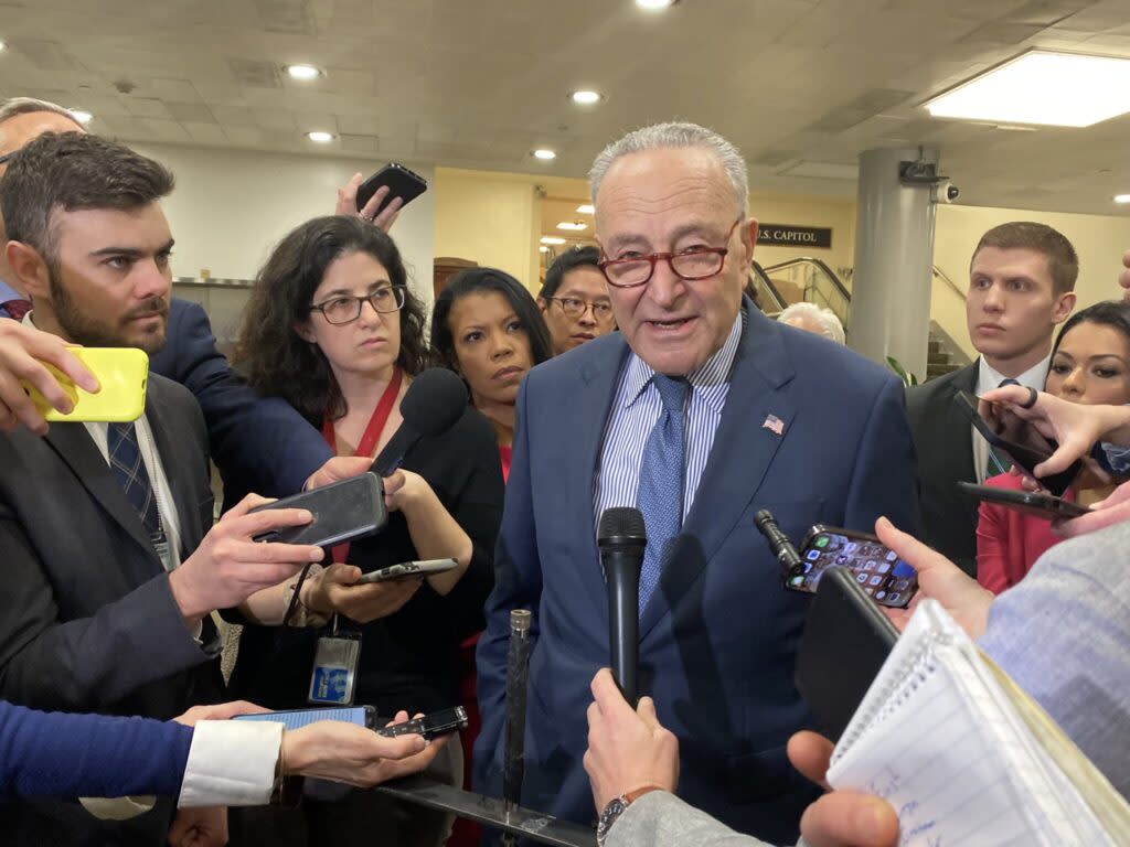
[[906, 392], [906, 419], [922, 486], [922, 541], [971, 576], [977, 573], [977, 503], [957, 483], [977, 480], [970, 419], [954, 396], [976, 388], [977, 361]]

